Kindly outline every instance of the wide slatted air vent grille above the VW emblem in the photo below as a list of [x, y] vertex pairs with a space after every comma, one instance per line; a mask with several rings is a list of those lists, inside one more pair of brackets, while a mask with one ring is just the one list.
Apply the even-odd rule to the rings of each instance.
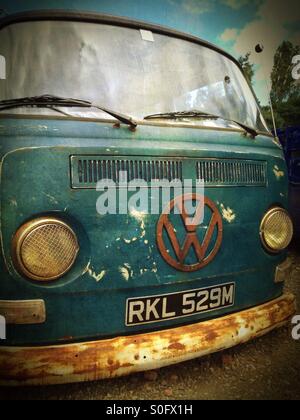
[[204, 180], [205, 187], [267, 186], [267, 162], [242, 159], [114, 158], [72, 156], [72, 188], [94, 189], [97, 182], [111, 180], [119, 185], [126, 172], [128, 182], [142, 180]]

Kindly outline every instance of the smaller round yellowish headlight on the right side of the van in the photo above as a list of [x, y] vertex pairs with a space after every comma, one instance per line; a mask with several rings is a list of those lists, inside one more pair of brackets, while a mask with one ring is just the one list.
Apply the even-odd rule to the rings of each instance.
[[260, 226], [265, 248], [270, 252], [286, 249], [293, 238], [293, 222], [288, 212], [280, 207], [268, 211]]

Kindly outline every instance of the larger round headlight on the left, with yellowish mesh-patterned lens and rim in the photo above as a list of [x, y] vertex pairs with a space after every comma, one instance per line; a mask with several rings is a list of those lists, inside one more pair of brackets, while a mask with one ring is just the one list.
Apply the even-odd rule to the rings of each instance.
[[37, 281], [50, 281], [73, 266], [79, 245], [73, 230], [61, 220], [40, 218], [23, 225], [13, 240], [18, 271]]

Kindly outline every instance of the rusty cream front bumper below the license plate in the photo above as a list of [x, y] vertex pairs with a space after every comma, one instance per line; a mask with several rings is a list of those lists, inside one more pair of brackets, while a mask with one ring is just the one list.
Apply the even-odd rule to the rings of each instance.
[[255, 308], [148, 334], [50, 347], [0, 347], [0, 385], [49, 385], [112, 378], [218, 352], [284, 325], [286, 294]]

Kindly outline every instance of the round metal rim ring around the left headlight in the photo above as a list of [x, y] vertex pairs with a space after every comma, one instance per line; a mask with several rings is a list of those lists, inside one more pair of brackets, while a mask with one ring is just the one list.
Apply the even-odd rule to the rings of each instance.
[[[34, 273], [32, 273], [31, 271], [27, 269], [26, 265], [24, 264], [22, 260], [21, 249], [22, 249], [22, 245], [25, 239], [30, 234], [32, 234], [39, 227], [49, 225], [49, 224], [60, 225], [68, 229], [69, 232], [72, 234], [73, 238], [75, 239], [76, 249], [75, 249], [73, 258], [71, 259], [70, 264], [65, 270], [61, 271], [61, 273], [55, 276], [41, 277], [41, 276], [35, 275]], [[12, 260], [15, 265], [15, 268], [17, 269], [20, 275], [27, 277], [29, 280], [33, 280], [39, 283], [49, 283], [49, 282], [61, 279], [63, 276], [65, 276], [74, 266], [74, 263], [78, 257], [79, 250], [80, 250], [80, 246], [78, 242], [78, 237], [76, 233], [74, 232], [74, 230], [72, 229], [72, 227], [65, 221], [58, 219], [56, 217], [51, 217], [51, 216], [39, 217], [39, 218], [30, 220], [24, 223], [17, 229], [12, 240]]]

